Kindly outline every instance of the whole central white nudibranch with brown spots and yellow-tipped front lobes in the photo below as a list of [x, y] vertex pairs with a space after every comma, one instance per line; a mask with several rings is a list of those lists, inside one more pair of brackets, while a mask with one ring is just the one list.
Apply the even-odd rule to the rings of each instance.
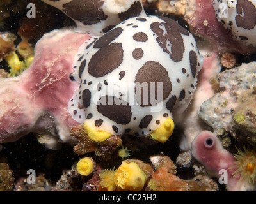
[[166, 142], [202, 61], [192, 34], [170, 18], [130, 18], [79, 48], [68, 111], [94, 141], [129, 133]]

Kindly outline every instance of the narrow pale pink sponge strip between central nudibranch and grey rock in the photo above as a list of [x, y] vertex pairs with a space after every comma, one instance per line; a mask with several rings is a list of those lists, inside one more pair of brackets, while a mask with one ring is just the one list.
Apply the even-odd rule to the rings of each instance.
[[191, 149], [191, 142], [193, 139], [203, 130], [209, 130], [209, 126], [202, 120], [198, 112], [201, 104], [213, 96], [210, 79], [217, 75], [221, 70], [220, 59], [214, 52], [208, 52], [208, 50], [200, 50], [202, 55], [205, 53], [211, 54], [211, 57], [205, 57], [201, 71], [198, 74], [198, 84], [196, 85], [196, 92], [183, 114], [178, 115], [179, 126], [182, 127], [184, 135], [180, 141], [180, 149], [183, 151]]

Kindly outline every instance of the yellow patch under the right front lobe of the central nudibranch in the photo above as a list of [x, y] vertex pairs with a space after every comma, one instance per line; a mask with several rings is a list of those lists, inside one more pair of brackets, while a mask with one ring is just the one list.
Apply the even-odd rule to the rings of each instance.
[[174, 130], [174, 122], [168, 117], [164, 124], [150, 133], [151, 137], [159, 142], [166, 142], [168, 138], [172, 135]]

